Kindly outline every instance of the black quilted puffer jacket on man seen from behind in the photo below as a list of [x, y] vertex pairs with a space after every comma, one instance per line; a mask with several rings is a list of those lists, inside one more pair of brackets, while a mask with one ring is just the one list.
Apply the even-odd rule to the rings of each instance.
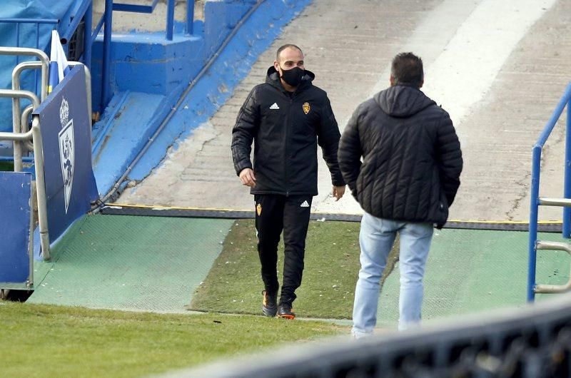
[[446, 223], [460, 186], [460, 142], [448, 113], [419, 89], [391, 86], [360, 104], [338, 156], [367, 213], [438, 228]]

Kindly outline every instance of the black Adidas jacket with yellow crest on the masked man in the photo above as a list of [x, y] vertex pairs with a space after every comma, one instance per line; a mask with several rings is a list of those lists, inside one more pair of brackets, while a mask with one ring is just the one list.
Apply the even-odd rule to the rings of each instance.
[[333, 185], [345, 185], [337, 163], [339, 128], [327, 93], [313, 86], [315, 75], [305, 70], [297, 91], [281, 85], [270, 67], [266, 83], [255, 86], [243, 104], [232, 131], [236, 174], [252, 168], [252, 194], [317, 195], [317, 145], [331, 173]]

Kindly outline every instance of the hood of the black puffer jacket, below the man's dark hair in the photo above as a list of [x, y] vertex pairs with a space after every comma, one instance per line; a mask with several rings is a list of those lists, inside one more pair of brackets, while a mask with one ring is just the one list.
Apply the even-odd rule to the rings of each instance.
[[396, 85], [380, 91], [374, 97], [380, 108], [392, 117], [410, 117], [436, 103], [420, 89]]

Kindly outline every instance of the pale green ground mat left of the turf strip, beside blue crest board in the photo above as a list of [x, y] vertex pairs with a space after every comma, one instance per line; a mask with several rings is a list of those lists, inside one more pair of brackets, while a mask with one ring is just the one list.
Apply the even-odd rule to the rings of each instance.
[[34, 264], [29, 302], [183, 312], [233, 220], [90, 215]]

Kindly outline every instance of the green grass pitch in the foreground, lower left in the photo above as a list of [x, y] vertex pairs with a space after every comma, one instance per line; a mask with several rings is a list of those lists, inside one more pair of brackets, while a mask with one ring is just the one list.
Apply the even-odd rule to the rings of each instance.
[[0, 302], [1, 377], [139, 377], [308, 342], [347, 327]]

